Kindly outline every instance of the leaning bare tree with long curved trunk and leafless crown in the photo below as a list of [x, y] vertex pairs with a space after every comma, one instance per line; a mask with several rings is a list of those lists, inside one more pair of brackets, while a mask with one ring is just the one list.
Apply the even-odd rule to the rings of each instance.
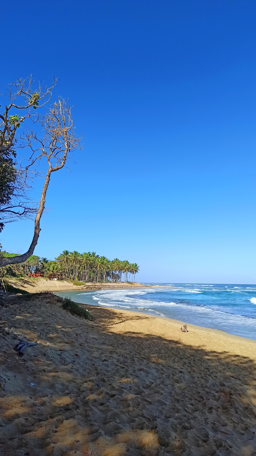
[[45, 181], [35, 218], [34, 236], [25, 254], [12, 258], [0, 258], [0, 266], [21, 263], [33, 254], [41, 231], [40, 220], [45, 208], [46, 192], [51, 174], [61, 170], [65, 166], [67, 159], [72, 155], [72, 152], [81, 148], [80, 138], [76, 136], [73, 126], [71, 107], [68, 106], [64, 99], [59, 98], [49, 113], [39, 122], [44, 131], [44, 135], [41, 138], [33, 130], [30, 130], [22, 137], [22, 147], [29, 146], [32, 150], [26, 171], [33, 169], [36, 165], [39, 166], [42, 160], [47, 163]]

